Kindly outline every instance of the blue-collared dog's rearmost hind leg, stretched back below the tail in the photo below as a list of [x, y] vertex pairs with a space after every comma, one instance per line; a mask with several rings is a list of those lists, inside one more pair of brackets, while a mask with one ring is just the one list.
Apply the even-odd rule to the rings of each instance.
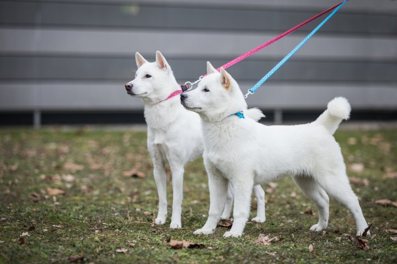
[[[368, 227], [368, 224], [364, 218], [363, 212], [361, 211], [358, 198], [350, 187], [346, 173], [340, 172], [338, 175], [327, 175], [319, 182], [319, 184], [329, 195], [347, 207], [347, 209], [353, 214], [354, 221], [356, 222], [357, 236], [362, 235], [364, 229]], [[367, 234], [370, 234], [370, 232], [368, 231]]]

